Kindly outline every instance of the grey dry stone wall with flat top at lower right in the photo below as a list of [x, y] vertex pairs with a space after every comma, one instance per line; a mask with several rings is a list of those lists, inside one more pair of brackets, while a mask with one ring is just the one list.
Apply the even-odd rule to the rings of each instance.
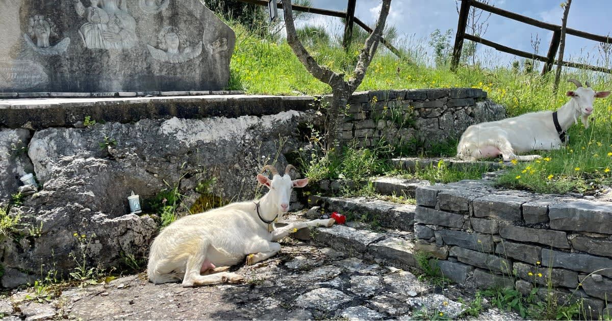
[[583, 298], [587, 315], [612, 311], [612, 203], [488, 180], [419, 187], [416, 200], [415, 248], [437, 257], [447, 278], [526, 294], [535, 285], [542, 298], [550, 280], [559, 300]]

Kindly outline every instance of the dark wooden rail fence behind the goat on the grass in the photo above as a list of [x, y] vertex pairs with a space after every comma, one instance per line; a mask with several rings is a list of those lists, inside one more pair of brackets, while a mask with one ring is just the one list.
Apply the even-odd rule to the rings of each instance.
[[[550, 41], [550, 46], [548, 47], [548, 53], [546, 57], [539, 56], [534, 53], [528, 53], [526, 51], [516, 50], [510, 48], [509, 46], [500, 45], [499, 43], [495, 43], [487, 39], [482, 39], [481, 37], [477, 37], [476, 35], [466, 34], [465, 29], [468, 22], [468, 13], [470, 7], [476, 7], [487, 12], [495, 13], [496, 15], [500, 15], [502, 17], [510, 18], [513, 20], [520, 21], [522, 23], [531, 24], [532, 26], [553, 31], [553, 37]], [[589, 32], [584, 32], [571, 28], [567, 28], [565, 34], [575, 35], [577, 37], [594, 40], [597, 42], [612, 43], [611, 37], [591, 34]], [[554, 57], [556, 56], [557, 51], [559, 50], [559, 40], [561, 39], [561, 26], [557, 24], [545, 23], [543, 21], [535, 20], [534, 18], [525, 17], [523, 15], [519, 15], [518, 13], [489, 6], [488, 4], [483, 4], [482, 2], [478, 2], [475, 0], [461, 0], [461, 8], [459, 10], [459, 19], [457, 23], [457, 34], [455, 35], [455, 45], [453, 46], [453, 56], [450, 66], [452, 70], [457, 70], [459, 61], [461, 60], [461, 51], [463, 50], [464, 39], [482, 43], [485, 46], [490, 46], [498, 51], [503, 51], [504, 53], [514, 54], [519, 57], [542, 61], [544, 62], [544, 67], [542, 68], [542, 75], [544, 75], [545, 73], [550, 72], [554, 64], [558, 64], [558, 61], [556, 61]], [[567, 67], [593, 70], [596, 72], [612, 73], [612, 70], [610, 68], [597, 67], [588, 64], [580, 64], [578, 62], [562, 61], [561, 64]]]

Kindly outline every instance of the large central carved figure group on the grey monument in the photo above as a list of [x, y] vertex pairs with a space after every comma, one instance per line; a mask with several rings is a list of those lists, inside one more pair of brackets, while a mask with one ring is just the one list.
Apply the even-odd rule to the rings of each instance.
[[125, 7], [127, 0], [90, 0], [84, 8], [80, 0], [75, 2], [76, 13], [88, 22], [79, 29], [81, 39], [90, 49], [129, 49], [138, 42], [136, 20]]

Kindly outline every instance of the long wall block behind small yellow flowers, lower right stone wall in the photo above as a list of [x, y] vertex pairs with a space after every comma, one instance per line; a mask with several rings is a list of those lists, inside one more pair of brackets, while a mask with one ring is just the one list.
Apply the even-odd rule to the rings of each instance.
[[536, 268], [535, 263], [514, 262], [513, 266], [517, 276], [528, 282], [535, 282], [542, 286], [546, 286], [550, 282], [554, 287], [569, 287], [571, 289], [578, 286], [578, 273], [575, 271], [563, 268], [547, 268], [541, 265]]

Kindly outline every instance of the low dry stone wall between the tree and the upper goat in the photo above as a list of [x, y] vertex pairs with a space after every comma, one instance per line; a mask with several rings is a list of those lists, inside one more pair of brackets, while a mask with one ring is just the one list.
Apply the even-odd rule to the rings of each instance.
[[371, 90], [348, 101], [341, 137], [361, 146], [381, 139], [394, 146], [431, 146], [458, 138], [469, 125], [506, 117], [506, 109], [477, 88]]

